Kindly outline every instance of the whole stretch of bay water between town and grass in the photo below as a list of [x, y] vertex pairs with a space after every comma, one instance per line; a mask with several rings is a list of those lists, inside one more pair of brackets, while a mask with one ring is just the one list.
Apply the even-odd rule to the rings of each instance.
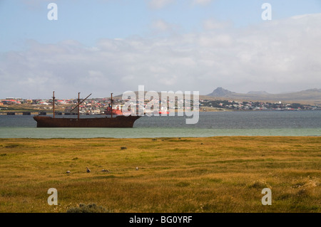
[[200, 119], [195, 125], [186, 125], [185, 117], [141, 117], [136, 120], [133, 128], [125, 129], [37, 128], [33, 116], [0, 115], [0, 138], [143, 138], [234, 135], [321, 136], [321, 111], [200, 112]]

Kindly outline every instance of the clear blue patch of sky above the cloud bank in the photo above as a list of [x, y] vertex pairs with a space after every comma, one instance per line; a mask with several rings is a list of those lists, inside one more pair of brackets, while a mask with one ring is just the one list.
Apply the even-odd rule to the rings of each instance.
[[[47, 19], [51, 2], [58, 6], [58, 21]], [[320, 0], [216, 0], [208, 4], [180, 0], [159, 7], [144, 0], [1, 0], [0, 51], [25, 48], [27, 39], [41, 43], [73, 39], [94, 46], [100, 38], [155, 36], [153, 21], [159, 19], [175, 24], [181, 33], [201, 31], [206, 19], [230, 21], [235, 27], [249, 26], [263, 23], [260, 15], [264, 2], [272, 5], [272, 19], [321, 12]]]

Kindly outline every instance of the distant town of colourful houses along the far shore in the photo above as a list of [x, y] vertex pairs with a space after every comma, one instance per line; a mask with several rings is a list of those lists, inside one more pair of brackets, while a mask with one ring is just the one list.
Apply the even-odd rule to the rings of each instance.
[[[115, 97], [113, 99], [113, 108], [121, 110], [124, 103], [128, 100], [121, 100]], [[42, 99], [24, 99], [16, 97], [7, 97], [0, 100], [0, 114], [4, 115], [9, 112], [52, 112], [53, 100]], [[144, 104], [150, 100], [144, 100]], [[161, 100], [160, 100], [161, 102]], [[168, 100], [167, 100], [168, 102]], [[183, 100], [180, 100], [183, 102]], [[63, 112], [66, 115], [72, 114], [71, 109], [78, 103], [77, 99], [55, 100], [55, 111]], [[200, 112], [211, 111], [263, 111], [263, 110], [321, 110], [319, 105], [307, 105], [300, 103], [286, 103], [286, 102], [252, 102], [252, 101], [235, 101], [235, 100], [213, 100], [213, 99], [200, 99], [199, 102]], [[104, 114], [106, 108], [111, 106], [110, 98], [92, 98], [88, 99], [80, 105], [80, 113], [82, 115], [101, 115]], [[193, 105], [192, 105], [193, 107]], [[183, 105], [178, 105], [175, 102], [175, 110], [183, 110]]]

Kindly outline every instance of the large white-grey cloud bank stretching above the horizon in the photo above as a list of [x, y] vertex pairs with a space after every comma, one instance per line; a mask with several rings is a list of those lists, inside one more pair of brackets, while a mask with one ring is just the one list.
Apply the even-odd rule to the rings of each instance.
[[[1, 54], [0, 97], [50, 97], [52, 90], [59, 97], [79, 91], [103, 97], [138, 85], [200, 94], [218, 86], [243, 93], [315, 88], [321, 84], [320, 23], [321, 14], [312, 14], [238, 30], [105, 38], [89, 48], [29, 41], [28, 51]], [[165, 22], [157, 26], [168, 29]]]

